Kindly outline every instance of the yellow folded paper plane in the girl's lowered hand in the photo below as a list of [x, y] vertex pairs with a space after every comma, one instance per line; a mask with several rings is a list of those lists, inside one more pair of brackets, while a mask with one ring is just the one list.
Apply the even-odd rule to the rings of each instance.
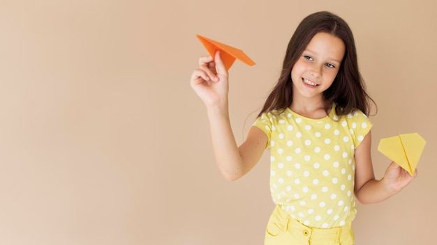
[[399, 134], [381, 139], [378, 150], [413, 175], [426, 143], [417, 133]]

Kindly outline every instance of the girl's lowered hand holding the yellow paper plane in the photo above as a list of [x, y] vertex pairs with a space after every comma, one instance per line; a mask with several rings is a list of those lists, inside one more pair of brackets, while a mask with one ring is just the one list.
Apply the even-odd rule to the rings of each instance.
[[384, 180], [387, 183], [387, 187], [389, 187], [395, 193], [398, 193], [401, 191], [401, 189], [410, 184], [410, 182], [413, 181], [416, 176], [417, 169], [414, 175], [411, 176], [408, 171], [392, 161], [392, 164], [390, 164], [385, 171]]

